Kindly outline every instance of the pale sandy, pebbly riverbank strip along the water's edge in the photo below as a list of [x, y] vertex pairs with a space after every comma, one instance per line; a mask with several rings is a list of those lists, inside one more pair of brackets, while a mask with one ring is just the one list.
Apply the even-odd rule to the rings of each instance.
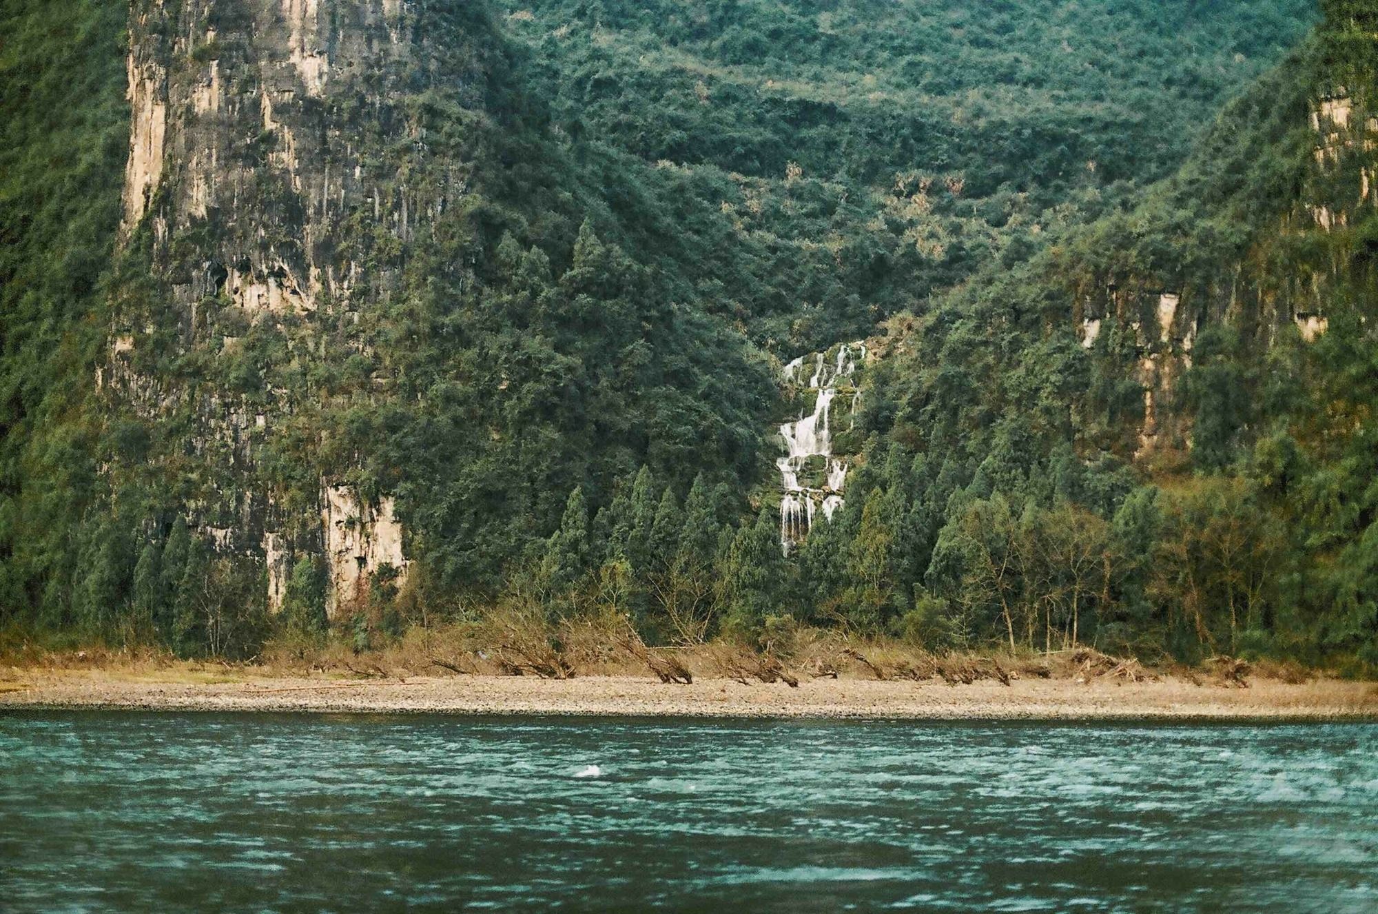
[[[229, 678], [229, 677], [226, 677]], [[663, 685], [634, 677], [466, 676], [402, 681], [267, 678], [187, 682], [103, 671], [39, 671], [0, 682], [0, 711], [125, 709], [205, 711], [369, 711], [608, 714], [663, 717], [874, 718], [1312, 718], [1378, 720], [1378, 684], [1254, 680], [1250, 688], [1156, 682], [1020, 680], [947, 685], [856, 678], [743, 685]]]

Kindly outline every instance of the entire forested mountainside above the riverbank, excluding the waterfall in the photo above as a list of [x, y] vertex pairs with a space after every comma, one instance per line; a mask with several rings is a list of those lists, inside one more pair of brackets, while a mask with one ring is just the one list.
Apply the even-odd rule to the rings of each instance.
[[1372, 662], [1370, 4], [969, 6], [10, 4], [4, 618]]

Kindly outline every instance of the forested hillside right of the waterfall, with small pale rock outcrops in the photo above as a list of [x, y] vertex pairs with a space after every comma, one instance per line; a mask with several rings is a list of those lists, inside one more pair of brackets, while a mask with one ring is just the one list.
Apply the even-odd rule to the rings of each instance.
[[1326, 12], [1173, 178], [892, 321], [824, 611], [1378, 660], [1378, 28]]

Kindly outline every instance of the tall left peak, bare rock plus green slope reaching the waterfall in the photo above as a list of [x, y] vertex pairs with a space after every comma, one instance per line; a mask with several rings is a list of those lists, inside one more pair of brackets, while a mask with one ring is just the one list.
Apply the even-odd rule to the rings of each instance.
[[763, 358], [617, 244], [486, 4], [141, 0], [127, 72], [96, 375], [136, 542], [182, 517], [267, 609], [314, 575], [376, 616], [422, 553], [492, 593], [575, 487], [755, 471]]

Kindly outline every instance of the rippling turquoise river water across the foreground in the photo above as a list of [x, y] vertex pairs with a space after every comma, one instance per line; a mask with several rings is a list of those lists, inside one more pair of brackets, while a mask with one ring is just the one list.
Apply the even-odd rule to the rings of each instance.
[[0, 714], [0, 911], [469, 908], [1378, 911], [1378, 725]]

